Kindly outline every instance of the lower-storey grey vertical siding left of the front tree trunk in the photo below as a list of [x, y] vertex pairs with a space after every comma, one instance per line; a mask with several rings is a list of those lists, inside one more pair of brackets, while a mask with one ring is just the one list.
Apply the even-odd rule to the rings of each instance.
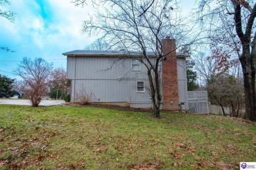
[[75, 94], [92, 94], [92, 102], [151, 103], [147, 92], [137, 92], [137, 80], [75, 80], [72, 86]]

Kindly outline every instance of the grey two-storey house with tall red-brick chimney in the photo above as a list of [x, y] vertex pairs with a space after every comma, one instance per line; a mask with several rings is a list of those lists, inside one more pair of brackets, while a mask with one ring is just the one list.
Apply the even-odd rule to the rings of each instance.
[[[163, 41], [163, 51], [176, 48], [175, 40]], [[139, 52], [74, 50], [63, 55], [68, 58], [67, 78], [72, 80], [71, 101], [79, 101], [86, 92], [95, 103], [152, 107], [147, 69], [136, 59]], [[153, 52], [148, 56], [156, 59]], [[161, 63], [161, 109], [188, 109], [185, 58], [174, 50]]]

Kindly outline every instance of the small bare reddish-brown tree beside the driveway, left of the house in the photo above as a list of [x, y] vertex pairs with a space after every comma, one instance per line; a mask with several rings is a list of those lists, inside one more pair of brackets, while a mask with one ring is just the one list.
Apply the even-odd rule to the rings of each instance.
[[47, 93], [47, 79], [51, 75], [53, 63], [42, 58], [23, 58], [14, 73], [21, 76], [28, 84], [30, 101], [33, 107], [38, 107], [41, 97]]

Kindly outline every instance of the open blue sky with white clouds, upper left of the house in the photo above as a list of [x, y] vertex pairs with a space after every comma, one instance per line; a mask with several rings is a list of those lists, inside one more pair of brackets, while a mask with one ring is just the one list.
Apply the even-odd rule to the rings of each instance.
[[[16, 13], [14, 23], [0, 17], [0, 46], [16, 52], [0, 50], [0, 74], [11, 78], [13, 69], [24, 57], [43, 58], [54, 67], [66, 69], [62, 53], [81, 50], [95, 40], [81, 33], [81, 24], [92, 8], [75, 7], [71, 0], [9, 0], [0, 7]], [[184, 14], [194, 7], [195, 0], [182, 0]]]

